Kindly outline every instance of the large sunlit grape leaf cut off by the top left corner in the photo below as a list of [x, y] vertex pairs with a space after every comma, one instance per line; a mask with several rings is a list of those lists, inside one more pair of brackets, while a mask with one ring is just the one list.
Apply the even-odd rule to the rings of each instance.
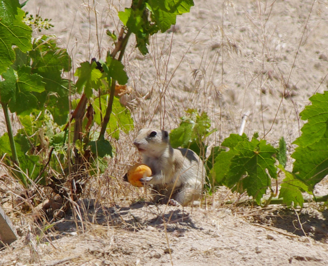
[[32, 47], [32, 30], [22, 22], [24, 15], [18, 1], [0, 0], [0, 74], [15, 60], [13, 45], [23, 52]]

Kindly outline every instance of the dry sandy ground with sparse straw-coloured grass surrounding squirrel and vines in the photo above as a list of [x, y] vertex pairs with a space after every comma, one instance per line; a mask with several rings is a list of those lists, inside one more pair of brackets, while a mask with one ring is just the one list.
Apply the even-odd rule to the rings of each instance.
[[[76, 68], [92, 57], [104, 59], [113, 49], [105, 31], [117, 32], [117, 10], [127, 6], [129, 1], [101, 0], [94, 7], [91, 1], [89, 6], [30, 0], [25, 9], [52, 18], [50, 31]], [[292, 153], [304, 123], [298, 114], [313, 93], [328, 87], [327, 20], [326, 6], [310, 0], [195, 1], [174, 29], [151, 39], [149, 55], [140, 55], [130, 42], [124, 60], [134, 92], [124, 100], [136, 129], [173, 129], [184, 110], [196, 108], [211, 117], [218, 131], [209, 141], [219, 145], [250, 112], [245, 133], [258, 131], [273, 145], [284, 136]], [[116, 143], [116, 161], [101, 178], [120, 178], [128, 163], [138, 160], [134, 135]], [[290, 157], [287, 167], [292, 168]], [[111, 188], [101, 188], [99, 203], [91, 200], [89, 211], [81, 214], [83, 223], [76, 226], [69, 213], [39, 239], [29, 227], [31, 217], [17, 217], [3, 205], [11, 194], [1, 194], [20, 238], [0, 251], [0, 265], [328, 264], [328, 212], [318, 212], [316, 204], [302, 210], [221, 206], [229, 194], [222, 188], [215, 206], [182, 208], [154, 205], [142, 200], [142, 189], [120, 186], [128, 196], [115, 198]], [[91, 187], [90, 195], [96, 190]], [[315, 192], [327, 191], [323, 180]]]

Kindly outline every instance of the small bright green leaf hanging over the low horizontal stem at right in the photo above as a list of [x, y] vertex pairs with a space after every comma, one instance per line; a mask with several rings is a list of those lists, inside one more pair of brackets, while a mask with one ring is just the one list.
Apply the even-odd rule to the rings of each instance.
[[278, 166], [284, 173], [278, 198], [283, 198], [287, 206], [303, 207], [304, 199], [301, 192], [308, 191], [307, 186], [301, 182], [293, 173], [286, 171], [281, 165]]

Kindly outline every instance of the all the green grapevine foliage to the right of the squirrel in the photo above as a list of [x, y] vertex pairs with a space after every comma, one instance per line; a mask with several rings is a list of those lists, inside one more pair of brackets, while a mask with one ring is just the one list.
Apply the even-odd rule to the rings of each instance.
[[[292, 154], [295, 159], [292, 172], [284, 168], [287, 154], [283, 138], [279, 147], [274, 148], [266, 140], [258, 139], [258, 133], [251, 139], [245, 133], [231, 134], [221, 144], [226, 148], [212, 148], [206, 159], [209, 183], [214, 187], [223, 185], [239, 193], [246, 191], [258, 205], [284, 203], [302, 207], [305, 201], [302, 193], [313, 194], [314, 186], [328, 174], [328, 92], [316, 93], [310, 100], [312, 105], [306, 106], [300, 113], [301, 118], [308, 122], [301, 129], [302, 135], [294, 141], [298, 147]], [[172, 131], [171, 139], [174, 147], [188, 147], [199, 153], [200, 146], [206, 150], [206, 146], [200, 143], [204, 143], [204, 137], [212, 133], [210, 121], [204, 113], [198, 115], [195, 110], [188, 113], [194, 119], [183, 117], [180, 126]], [[271, 184], [280, 173], [285, 178], [277, 195]], [[270, 197], [263, 200], [267, 189], [271, 191]], [[273, 199], [276, 196], [278, 198]], [[315, 198], [315, 201], [325, 204], [327, 200], [328, 195]]]

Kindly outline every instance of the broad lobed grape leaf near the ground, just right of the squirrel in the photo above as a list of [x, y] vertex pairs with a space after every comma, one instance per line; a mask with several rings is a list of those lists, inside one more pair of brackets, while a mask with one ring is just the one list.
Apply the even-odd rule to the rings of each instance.
[[228, 152], [221, 152], [215, 158], [211, 174], [219, 184], [242, 192], [247, 190], [259, 204], [261, 197], [270, 186], [270, 177], [277, 178], [277, 169], [273, 155], [276, 149], [265, 140], [252, 138], [249, 141], [245, 134], [230, 134], [222, 142], [229, 147]]

